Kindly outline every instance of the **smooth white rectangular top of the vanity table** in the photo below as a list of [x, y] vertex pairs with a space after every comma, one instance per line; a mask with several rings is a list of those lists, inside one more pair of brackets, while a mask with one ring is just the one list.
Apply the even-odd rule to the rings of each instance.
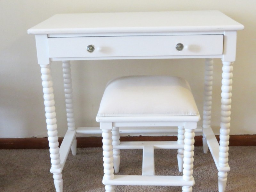
[[113, 12], [56, 14], [28, 34], [147, 33], [242, 30], [219, 11]]

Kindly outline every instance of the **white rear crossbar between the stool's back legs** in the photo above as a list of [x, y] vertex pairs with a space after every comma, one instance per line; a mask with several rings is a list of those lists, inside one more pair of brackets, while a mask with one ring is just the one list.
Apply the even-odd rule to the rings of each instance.
[[155, 149], [178, 149], [184, 148], [177, 141], [121, 141], [114, 149], [143, 149], [144, 146], [154, 146]]

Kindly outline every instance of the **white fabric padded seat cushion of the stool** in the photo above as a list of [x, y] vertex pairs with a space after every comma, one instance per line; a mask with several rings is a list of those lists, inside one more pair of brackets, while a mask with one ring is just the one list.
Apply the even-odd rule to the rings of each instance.
[[110, 81], [98, 116], [197, 116], [188, 82], [175, 76], [124, 76]]

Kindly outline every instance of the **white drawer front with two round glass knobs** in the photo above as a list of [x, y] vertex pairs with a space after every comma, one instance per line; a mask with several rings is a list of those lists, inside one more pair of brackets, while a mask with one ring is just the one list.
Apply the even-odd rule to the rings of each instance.
[[50, 58], [222, 55], [223, 35], [52, 37], [48, 44]]

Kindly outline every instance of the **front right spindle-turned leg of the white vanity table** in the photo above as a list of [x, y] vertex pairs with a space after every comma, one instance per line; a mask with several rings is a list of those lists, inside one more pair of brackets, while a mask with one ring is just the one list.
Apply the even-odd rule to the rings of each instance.
[[[219, 166], [228, 167], [228, 144], [230, 127], [230, 109], [232, 96], [233, 62], [223, 61], [221, 86], [221, 119], [220, 119], [220, 153]], [[227, 183], [227, 172], [219, 172], [219, 192], [224, 192]]]

